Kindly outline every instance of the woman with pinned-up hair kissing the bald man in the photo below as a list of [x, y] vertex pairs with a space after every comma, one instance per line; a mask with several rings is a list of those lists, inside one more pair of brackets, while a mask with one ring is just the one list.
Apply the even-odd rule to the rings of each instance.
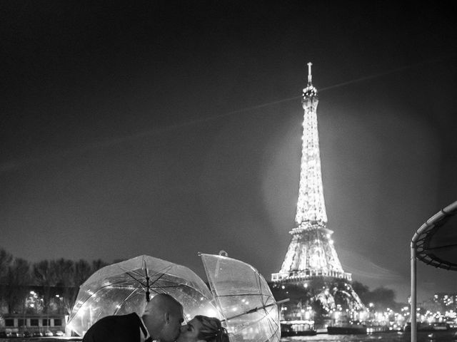
[[198, 315], [181, 326], [176, 342], [229, 342], [229, 334], [219, 319]]

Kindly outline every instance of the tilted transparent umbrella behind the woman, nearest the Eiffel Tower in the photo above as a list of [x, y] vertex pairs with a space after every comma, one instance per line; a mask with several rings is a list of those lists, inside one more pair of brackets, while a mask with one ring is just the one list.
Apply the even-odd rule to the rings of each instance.
[[[278, 303], [253, 266], [221, 255], [201, 254], [230, 342], [278, 342]], [[282, 301], [281, 301], [282, 302]]]

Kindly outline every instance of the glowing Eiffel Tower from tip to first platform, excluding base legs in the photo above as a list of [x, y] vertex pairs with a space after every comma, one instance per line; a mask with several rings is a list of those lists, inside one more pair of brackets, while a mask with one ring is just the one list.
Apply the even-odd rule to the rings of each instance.
[[301, 148], [300, 185], [292, 239], [281, 270], [271, 275], [273, 281], [307, 281], [315, 277], [331, 277], [351, 281], [333, 247], [327, 229], [323, 199], [321, 156], [317, 128], [317, 90], [313, 87], [311, 63], [308, 63], [308, 84], [303, 89], [303, 142]]

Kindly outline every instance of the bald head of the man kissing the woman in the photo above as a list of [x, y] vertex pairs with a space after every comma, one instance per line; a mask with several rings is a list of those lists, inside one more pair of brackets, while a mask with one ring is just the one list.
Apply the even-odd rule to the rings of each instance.
[[142, 318], [154, 340], [174, 342], [184, 322], [183, 306], [169, 294], [156, 294], [146, 305]]

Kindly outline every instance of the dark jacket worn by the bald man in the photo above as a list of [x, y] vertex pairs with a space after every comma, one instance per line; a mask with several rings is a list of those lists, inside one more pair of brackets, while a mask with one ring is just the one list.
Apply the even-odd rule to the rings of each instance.
[[140, 342], [140, 329], [144, 331], [144, 326], [135, 313], [106, 316], [89, 328], [83, 342]]

